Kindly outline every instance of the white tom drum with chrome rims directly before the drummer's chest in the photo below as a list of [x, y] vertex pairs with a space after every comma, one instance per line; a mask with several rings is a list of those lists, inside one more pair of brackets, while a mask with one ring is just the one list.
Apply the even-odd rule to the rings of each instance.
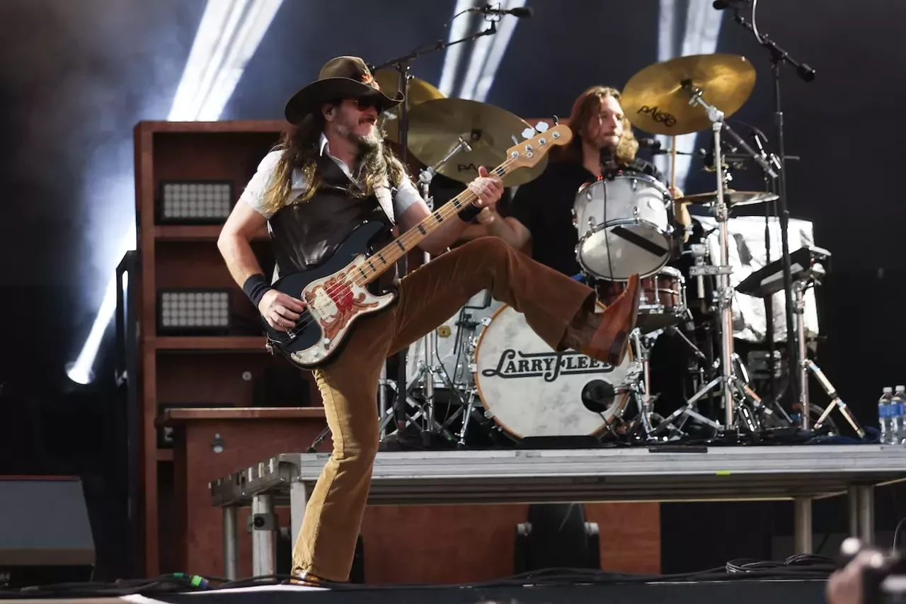
[[647, 174], [623, 174], [584, 186], [573, 203], [575, 256], [593, 277], [625, 281], [663, 268], [673, 247], [673, 203]]

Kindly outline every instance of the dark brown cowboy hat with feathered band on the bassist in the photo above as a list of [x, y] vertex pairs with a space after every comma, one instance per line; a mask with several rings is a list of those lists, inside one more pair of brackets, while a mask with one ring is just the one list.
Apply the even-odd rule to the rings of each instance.
[[395, 107], [403, 101], [402, 93], [395, 98], [381, 93], [381, 86], [359, 57], [338, 56], [324, 64], [316, 81], [286, 102], [284, 115], [287, 122], [299, 123], [309, 113], [318, 111], [325, 102], [361, 97], [374, 97], [381, 105], [379, 111]]

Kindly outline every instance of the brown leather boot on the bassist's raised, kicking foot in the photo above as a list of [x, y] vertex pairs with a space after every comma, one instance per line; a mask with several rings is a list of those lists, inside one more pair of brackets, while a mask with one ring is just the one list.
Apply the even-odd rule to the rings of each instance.
[[564, 344], [609, 365], [621, 365], [629, 350], [629, 336], [639, 317], [641, 287], [632, 275], [611, 306], [602, 313], [579, 313], [566, 330]]

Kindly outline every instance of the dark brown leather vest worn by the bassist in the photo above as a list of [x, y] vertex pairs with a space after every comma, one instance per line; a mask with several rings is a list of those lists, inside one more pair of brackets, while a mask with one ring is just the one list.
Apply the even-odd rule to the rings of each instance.
[[[281, 276], [323, 264], [363, 222], [377, 220], [384, 224], [385, 232], [374, 244], [377, 247], [392, 239], [390, 219], [376, 197], [352, 195], [350, 190], [358, 185], [326, 154], [318, 158], [318, 172], [321, 184], [310, 200], [290, 203], [269, 220]], [[396, 268], [392, 268], [379, 278], [378, 288], [392, 287], [396, 281]]]

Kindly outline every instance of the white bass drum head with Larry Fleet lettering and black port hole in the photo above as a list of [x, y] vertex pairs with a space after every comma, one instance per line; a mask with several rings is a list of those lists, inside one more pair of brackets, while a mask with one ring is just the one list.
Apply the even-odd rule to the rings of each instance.
[[[599, 305], [599, 310], [603, 307]], [[554, 352], [513, 307], [500, 307], [475, 350], [475, 382], [489, 415], [516, 440], [533, 436], [596, 436], [626, 405], [617, 388], [630, 355], [614, 367], [572, 350]], [[584, 400], [606, 407], [589, 410]]]

